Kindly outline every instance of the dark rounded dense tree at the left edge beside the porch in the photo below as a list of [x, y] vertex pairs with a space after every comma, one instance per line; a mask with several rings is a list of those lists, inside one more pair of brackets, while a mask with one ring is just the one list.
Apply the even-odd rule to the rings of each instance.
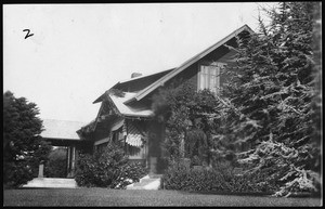
[[3, 94], [3, 184], [20, 186], [31, 180], [51, 145], [41, 140], [39, 109], [25, 97]]

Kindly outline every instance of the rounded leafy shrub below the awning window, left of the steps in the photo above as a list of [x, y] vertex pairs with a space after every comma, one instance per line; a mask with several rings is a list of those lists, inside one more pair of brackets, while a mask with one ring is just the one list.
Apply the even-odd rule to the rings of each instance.
[[147, 174], [141, 162], [131, 162], [118, 145], [109, 144], [103, 152], [81, 154], [75, 180], [79, 186], [125, 188]]

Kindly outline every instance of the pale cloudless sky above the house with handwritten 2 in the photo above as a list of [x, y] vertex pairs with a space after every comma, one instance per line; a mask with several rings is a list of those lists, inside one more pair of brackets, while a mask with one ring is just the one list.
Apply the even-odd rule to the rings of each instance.
[[178, 67], [245, 24], [257, 31], [258, 6], [272, 4], [4, 4], [3, 92], [41, 119], [88, 123], [119, 80]]

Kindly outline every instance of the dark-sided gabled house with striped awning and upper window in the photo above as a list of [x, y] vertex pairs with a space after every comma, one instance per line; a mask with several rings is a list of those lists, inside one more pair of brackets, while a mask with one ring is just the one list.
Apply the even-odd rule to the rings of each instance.
[[146, 76], [133, 75], [129, 80], [119, 81], [93, 102], [101, 103], [98, 116], [78, 130], [78, 134], [92, 142], [96, 149], [107, 143], [119, 143], [130, 160], [145, 162], [151, 173], [162, 172], [159, 142], [165, 138], [165, 127], [153, 118], [152, 96], [159, 88], [178, 80], [190, 81], [197, 90], [208, 88], [218, 94], [226, 80], [220, 76], [220, 69], [231, 65], [236, 53], [227, 45], [236, 48], [237, 36], [252, 32], [244, 25], [179, 67]]

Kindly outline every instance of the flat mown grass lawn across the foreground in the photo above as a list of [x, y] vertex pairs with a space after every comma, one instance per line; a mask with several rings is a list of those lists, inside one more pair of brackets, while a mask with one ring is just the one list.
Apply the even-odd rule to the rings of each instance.
[[107, 188], [4, 190], [3, 206], [321, 206], [321, 198], [205, 195]]

